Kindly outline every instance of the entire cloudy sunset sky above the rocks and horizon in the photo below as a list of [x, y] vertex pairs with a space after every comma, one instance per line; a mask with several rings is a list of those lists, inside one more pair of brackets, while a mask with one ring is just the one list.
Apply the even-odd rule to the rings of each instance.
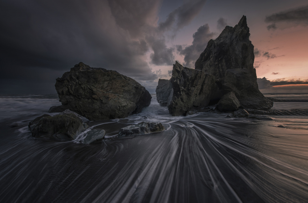
[[194, 68], [207, 42], [243, 15], [260, 89], [307, 84], [306, 0], [2, 0], [0, 94], [56, 93], [55, 79], [79, 62], [155, 93], [176, 60]]

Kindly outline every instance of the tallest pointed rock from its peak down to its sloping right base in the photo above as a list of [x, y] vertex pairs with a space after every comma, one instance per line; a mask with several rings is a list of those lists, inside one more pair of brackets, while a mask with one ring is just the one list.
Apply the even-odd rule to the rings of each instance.
[[[270, 109], [273, 102], [258, 89], [253, 68], [253, 45], [243, 16], [234, 26], [226, 26], [217, 39], [211, 39], [195, 63], [195, 69], [211, 74], [218, 81], [220, 94], [233, 91], [242, 108]], [[219, 95], [219, 94], [218, 94]]]

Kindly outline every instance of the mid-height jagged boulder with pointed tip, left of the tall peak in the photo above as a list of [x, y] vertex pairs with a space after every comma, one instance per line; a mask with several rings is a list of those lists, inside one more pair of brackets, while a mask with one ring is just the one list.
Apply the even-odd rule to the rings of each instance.
[[177, 61], [170, 82], [173, 91], [168, 110], [172, 116], [185, 116], [192, 109], [206, 107], [217, 88], [213, 75], [183, 67]]

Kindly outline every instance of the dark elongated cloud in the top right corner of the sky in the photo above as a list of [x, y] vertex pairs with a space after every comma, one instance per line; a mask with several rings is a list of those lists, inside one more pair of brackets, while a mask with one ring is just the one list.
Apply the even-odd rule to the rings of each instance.
[[276, 30], [278, 27], [277, 23], [290, 23], [289, 26], [297, 25], [308, 25], [308, 6], [302, 6], [300, 8], [282, 11], [279, 13], [272, 14], [265, 18], [265, 22], [272, 23], [267, 26], [267, 29]]

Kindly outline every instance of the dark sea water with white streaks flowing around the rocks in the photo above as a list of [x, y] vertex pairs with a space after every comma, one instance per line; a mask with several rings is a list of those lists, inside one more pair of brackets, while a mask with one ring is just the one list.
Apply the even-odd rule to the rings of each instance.
[[[83, 145], [82, 134], [56, 141], [28, 131], [29, 121], [60, 105], [57, 95], [1, 95], [0, 202], [307, 202], [308, 116], [296, 112], [308, 111], [308, 94], [265, 96], [276, 99], [272, 109], [295, 113], [172, 117], [153, 94], [128, 118], [84, 119], [107, 134]], [[166, 130], [114, 138], [142, 121]]]

